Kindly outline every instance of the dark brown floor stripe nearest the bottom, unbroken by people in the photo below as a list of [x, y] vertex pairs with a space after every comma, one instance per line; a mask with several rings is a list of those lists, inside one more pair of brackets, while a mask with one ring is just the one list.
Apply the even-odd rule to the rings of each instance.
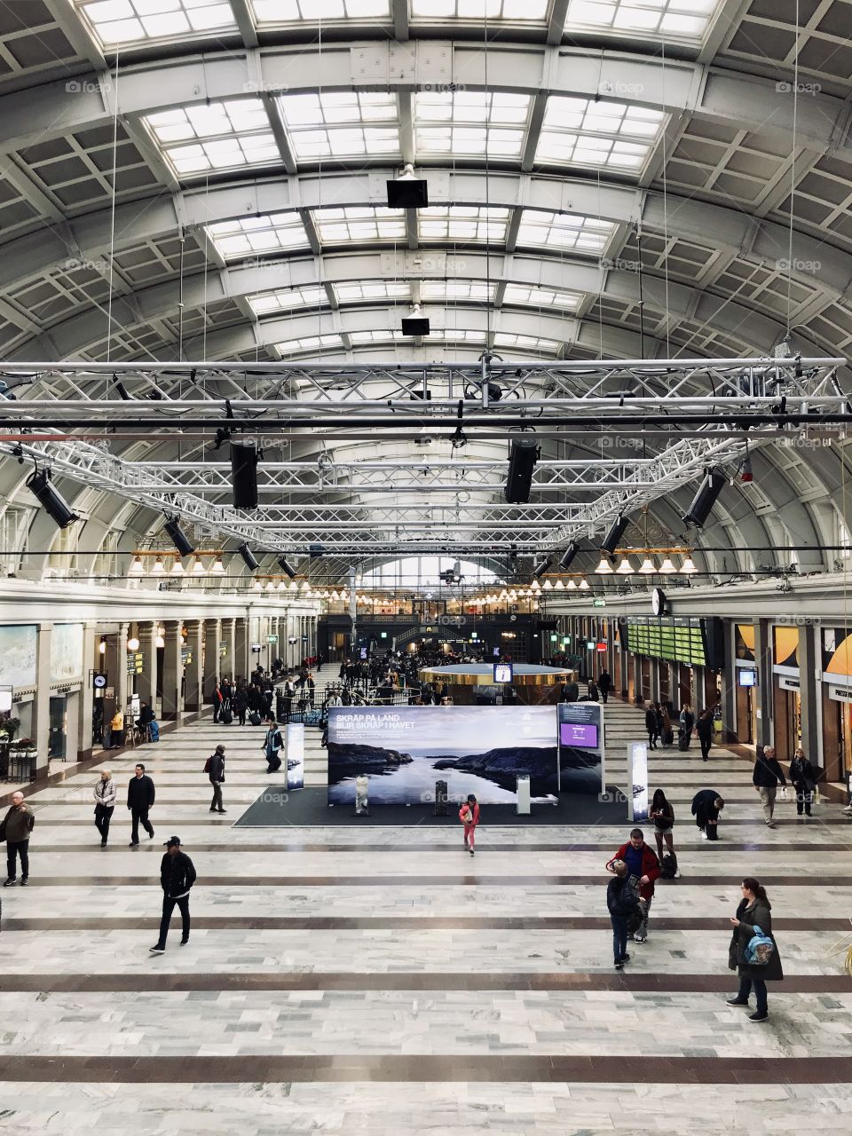
[[[743, 1029], [754, 1029], [747, 1022]], [[772, 1029], [771, 1025], [762, 1027]], [[286, 1081], [550, 1081], [663, 1085], [852, 1083], [849, 1058], [435, 1056], [7, 1056], [7, 1081], [236, 1084]]]

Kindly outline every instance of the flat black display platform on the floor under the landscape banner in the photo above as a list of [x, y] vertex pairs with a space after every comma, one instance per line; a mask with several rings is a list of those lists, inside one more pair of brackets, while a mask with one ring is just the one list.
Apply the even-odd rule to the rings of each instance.
[[[612, 801], [598, 801], [580, 795], [562, 795], [557, 804], [534, 804], [528, 817], [519, 817], [513, 804], [484, 804], [481, 824], [490, 825], [607, 825], [624, 828], [627, 821], [627, 803], [620, 793], [611, 794]], [[620, 800], [618, 799], [620, 797]], [[445, 817], [435, 817], [433, 805], [377, 804], [370, 815], [358, 817], [354, 800], [351, 805], [327, 804], [325, 786], [285, 792], [278, 784], [269, 785], [249, 805], [236, 821], [236, 828], [277, 828], [287, 826], [329, 825], [385, 825], [395, 828], [407, 825], [459, 826], [458, 805], [450, 805]]]

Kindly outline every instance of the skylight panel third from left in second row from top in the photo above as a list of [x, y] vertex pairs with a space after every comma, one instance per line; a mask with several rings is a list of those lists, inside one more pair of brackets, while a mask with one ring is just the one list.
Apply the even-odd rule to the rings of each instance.
[[[520, 158], [532, 98], [504, 91], [421, 91], [415, 95], [415, 145], [435, 157]], [[487, 127], [487, 130], [486, 130]]]

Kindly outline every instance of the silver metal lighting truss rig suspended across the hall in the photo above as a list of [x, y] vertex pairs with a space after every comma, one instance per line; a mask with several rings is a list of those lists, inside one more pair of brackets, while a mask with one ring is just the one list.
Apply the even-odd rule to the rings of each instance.
[[[484, 359], [478, 366], [426, 367], [7, 364], [0, 373], [10, 389], [36, 384], [32, 393], [47, 396], [0, 403], [0, 451], [15, 450], [82, 484], [181, 516], [223, 536], [248, 540], [268, 551], [300, 552], [321, 545], [328, 553], [356, 548], [367, 554], [400, 549], [424, 551], [426, 546], [493, 553], [511, 541], [524, 551], [552, 552], [568, 538], [591, 535], [619, 512], [676, 488], [708, 465], [741, 458], [745, 451], [742, 433], [750, 426], [753, 449], [777, 438], [778, 428], [791, 423], [804, 421], [813, 432], [852, 421], [847, 395], [836, 377], [837, 368], [844, 365], [843, 359], [634, 360], [511, 367], [495, 367], [493, 359]], [[123, 393], [116, 396], [118, 384]], [[420, 395], [429, 393], [432, 400], [412, 401], [412, 384], [420, 384]], [[223, 395], [223, 386], [227, 395]], [[252, 386], [253, 394], [247, 390]], [[383, 387], [379, 396], [377, 386]], [[57, 398], [66, 391], [74, 398]], [[149, 401], [145, 395], [153, 392], [157, 401]], [[578, 416], [580, 406], [588, 410], [602, 436], [605, 431], [623, 432], [636, 416], [652, 416], [677, 429], [684, 415], [695, 415], [703, 427], [698, 435], [682, 436], [652, 459], [624, 462], [602, 457], [582, 465], [542, 463], [536, 475], [538, 487], [607, 490], [590, 503], [506, 506], [487, 499], [462, 503], [457, 498], [454, 503], [434, 501], [418, 507], [377, 502], [378, 508], [374, 508], [357, 501], [311, 507], [276, 503], [251, 513], [206, 499], [209, 493], [228, 488], [220, 463], [210, 468], [199, 465], [192, 478], [186, 478], [184, 475], [192, 471], [192, 467], [186, 468], [189, 463], [127, 462], [109, 452], [107, 437], [92, 444], [72, 433], [83, 425], [120, 428], [127, 424], [150, 428], [153, 442], [193, 424], [242, 428], [259, 435], [282, 428], [315, 428], [319, 416], [324, 416], [321, 424], [332, 431], [349, 434], [354, 421], [369, 424], [374, 438], [376, 426], [399, 438], [406, 426], [428, 426], [429, 432], [436, 427], [457, 428], [460, 402], [468, 429], [498, 426], [503, 436], [506, 427], [511, 426], [531, 429], [575, 425], [585, 420]], [[324, 441], [333, 443], [334, 433]], [[504, 470], [504, 462], [468, 463], [459, 458], [444, 463], [444, 469], [450, 465], [466, 471], [469, 468], [471, 488], [485, 494], [502, 488], [504, 478], [500, 483], [486, 478], [501, 466]], [[299, 466], [273, 466], [265, 488], [287, 488], [274, 474], [299, 478]], [[389, 476], [392, 467], [394, 476], [401, 470], [408, 482], [394, 482]], [[342, 484], [341, 468], [333, 458], [323, 470], [318, 463], [317, 481], [348, 494], [365, 490], [410, 492], [415, 482], [419, 487], [421, 465], [414, 452], [408, 463], [348, 463], [350, 471], [357, 471], [356, 483]], [[579, 478], [571, 481], [577, 470]], [[378, 479], [374, 479], [376, 473]], [[299, 484], [316, 492], [316, 482]], [[446, 490], [459, 494], [463, 486], [450, 479], [433, 482], [428, 487], [432, 493]]]

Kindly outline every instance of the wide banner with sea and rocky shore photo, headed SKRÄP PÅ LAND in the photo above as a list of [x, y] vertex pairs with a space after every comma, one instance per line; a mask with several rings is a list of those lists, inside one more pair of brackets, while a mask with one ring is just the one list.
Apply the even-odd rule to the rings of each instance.
[[451, 801], [557, 800], [556, 707], [334, 707], [328, 711], [328, 803], [351, 804], [366, 774], [370, 805], [428, 804], [435, 782]]

